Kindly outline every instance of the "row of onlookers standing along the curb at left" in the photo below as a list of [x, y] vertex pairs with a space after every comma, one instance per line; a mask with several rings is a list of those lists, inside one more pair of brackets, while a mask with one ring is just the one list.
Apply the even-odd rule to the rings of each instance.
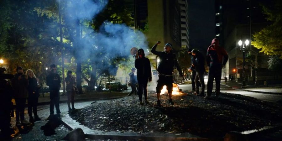
[[[39, 99], [39, 90], [41, 85], [39, 85], [39, 79], [36, 77], [34, 72], [30, 69], [26, 70], [22, 67], [16, 68], [16, 74], [10, 78], [3, 77], [5, 68], [0, 69], [0, 91], [1, 91], [1, 109], [0, 117], [2, 123], [0, 123], [1, 136], [11, 135], [14, 133], [13, 129], [10, 127], [10, 116], [14, 117], [13, 112], [13, 102], [12, 98], [15, 100], [15, 116], [16, 116], [16, 126], [29, 125], [36, 121], [40, 121], [41, 118], [37, 114], [37, 104]], [[11, 84], [5, 79], [11, 79]], [[69, 112], [75, 109], [74, 107], [74, 94], [76, 81], [72, 76], [72, 71], [67, 72], [66, 82], [66, 93], [67, 93], [67, 104], [69, 107]], [[57, 66], [55, 64], [50, 65], [50, 73], [46, 77], [46, 85], [50, 89], [50, 116], [60, 117], [60, 87], [61, 87], [61, 77], [57, 74]], [[24, 117], [24, 110], [28, 103], [28, 114], [29, 121]], [[70, 108], [70, 102], [72, 108]], [[5, 108], [4, 105], [7, 107]], [[54, 115], [54, 106], [56, 108], [56, 115]]]

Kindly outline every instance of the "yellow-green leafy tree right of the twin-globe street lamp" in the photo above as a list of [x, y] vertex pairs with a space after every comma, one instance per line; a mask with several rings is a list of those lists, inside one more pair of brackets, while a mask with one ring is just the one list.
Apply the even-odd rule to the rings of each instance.
[[266, 55], [278, 55], [282, 59], [282, 1], [277, 0], [274, 9], [263, 6], [269, 26], [253, 34], [252, 45]]

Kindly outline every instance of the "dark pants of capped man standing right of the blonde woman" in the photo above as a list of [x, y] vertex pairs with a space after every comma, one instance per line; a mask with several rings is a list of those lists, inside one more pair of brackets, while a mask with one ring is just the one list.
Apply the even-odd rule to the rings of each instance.
[[56, 107], [56, 113], [60, 114], [60, 91], [51, 91], [50, 92], [50, 114], [54, 114], [54, 105]]

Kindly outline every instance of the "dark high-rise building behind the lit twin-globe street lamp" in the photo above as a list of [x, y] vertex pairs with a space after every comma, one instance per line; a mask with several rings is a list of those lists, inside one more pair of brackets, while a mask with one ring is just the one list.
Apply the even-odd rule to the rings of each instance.
[[[215, 37], [220, 40], [220, 45], [229, 55], [227, 65], [222, 69], [222, 77], [229, 74], [242, 79], [243, 53], [238, 46], [238, 41], [248, 39], [252, 41], [252, 35], [266, 27], [269, 22], [262, 13], [261, 4], [271, 7], [272, 0], [241, 0], [241, 1], [215, 1]], [[248, 45], [246, 52], [245, 72], [247, 80], [255, 80], [258, 76], [265, 76], [267, 71], [268, 56], [259, 53], [252, 45]], [[255, 71], [255, 67], [258, 67]], [[260, 77], [260, 79], [264, 79]]]

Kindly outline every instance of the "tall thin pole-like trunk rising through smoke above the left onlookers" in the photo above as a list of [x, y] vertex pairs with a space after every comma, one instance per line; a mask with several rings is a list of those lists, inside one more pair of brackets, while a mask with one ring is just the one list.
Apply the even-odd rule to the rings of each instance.
[[60, 51], [62, 59], [62, 74], [63, 74], [63, 94], [65, 94], [65, 55], [63, 51], [63, 32], [62, 32], [62, 20], [61, 20], [61, 10], [60, 10], [60, 0], [59, 0], [59, 18], [60, 18]]

